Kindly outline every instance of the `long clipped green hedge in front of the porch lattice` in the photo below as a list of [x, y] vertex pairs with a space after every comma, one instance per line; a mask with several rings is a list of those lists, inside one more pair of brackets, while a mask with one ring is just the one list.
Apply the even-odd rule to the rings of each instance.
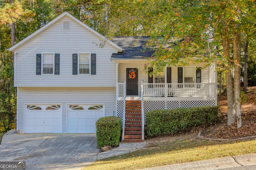
[[219, 117], [218, 106], [149, 111], [146, 113], [145, 137], [174, 134], [189, 127], [214, 123]]

